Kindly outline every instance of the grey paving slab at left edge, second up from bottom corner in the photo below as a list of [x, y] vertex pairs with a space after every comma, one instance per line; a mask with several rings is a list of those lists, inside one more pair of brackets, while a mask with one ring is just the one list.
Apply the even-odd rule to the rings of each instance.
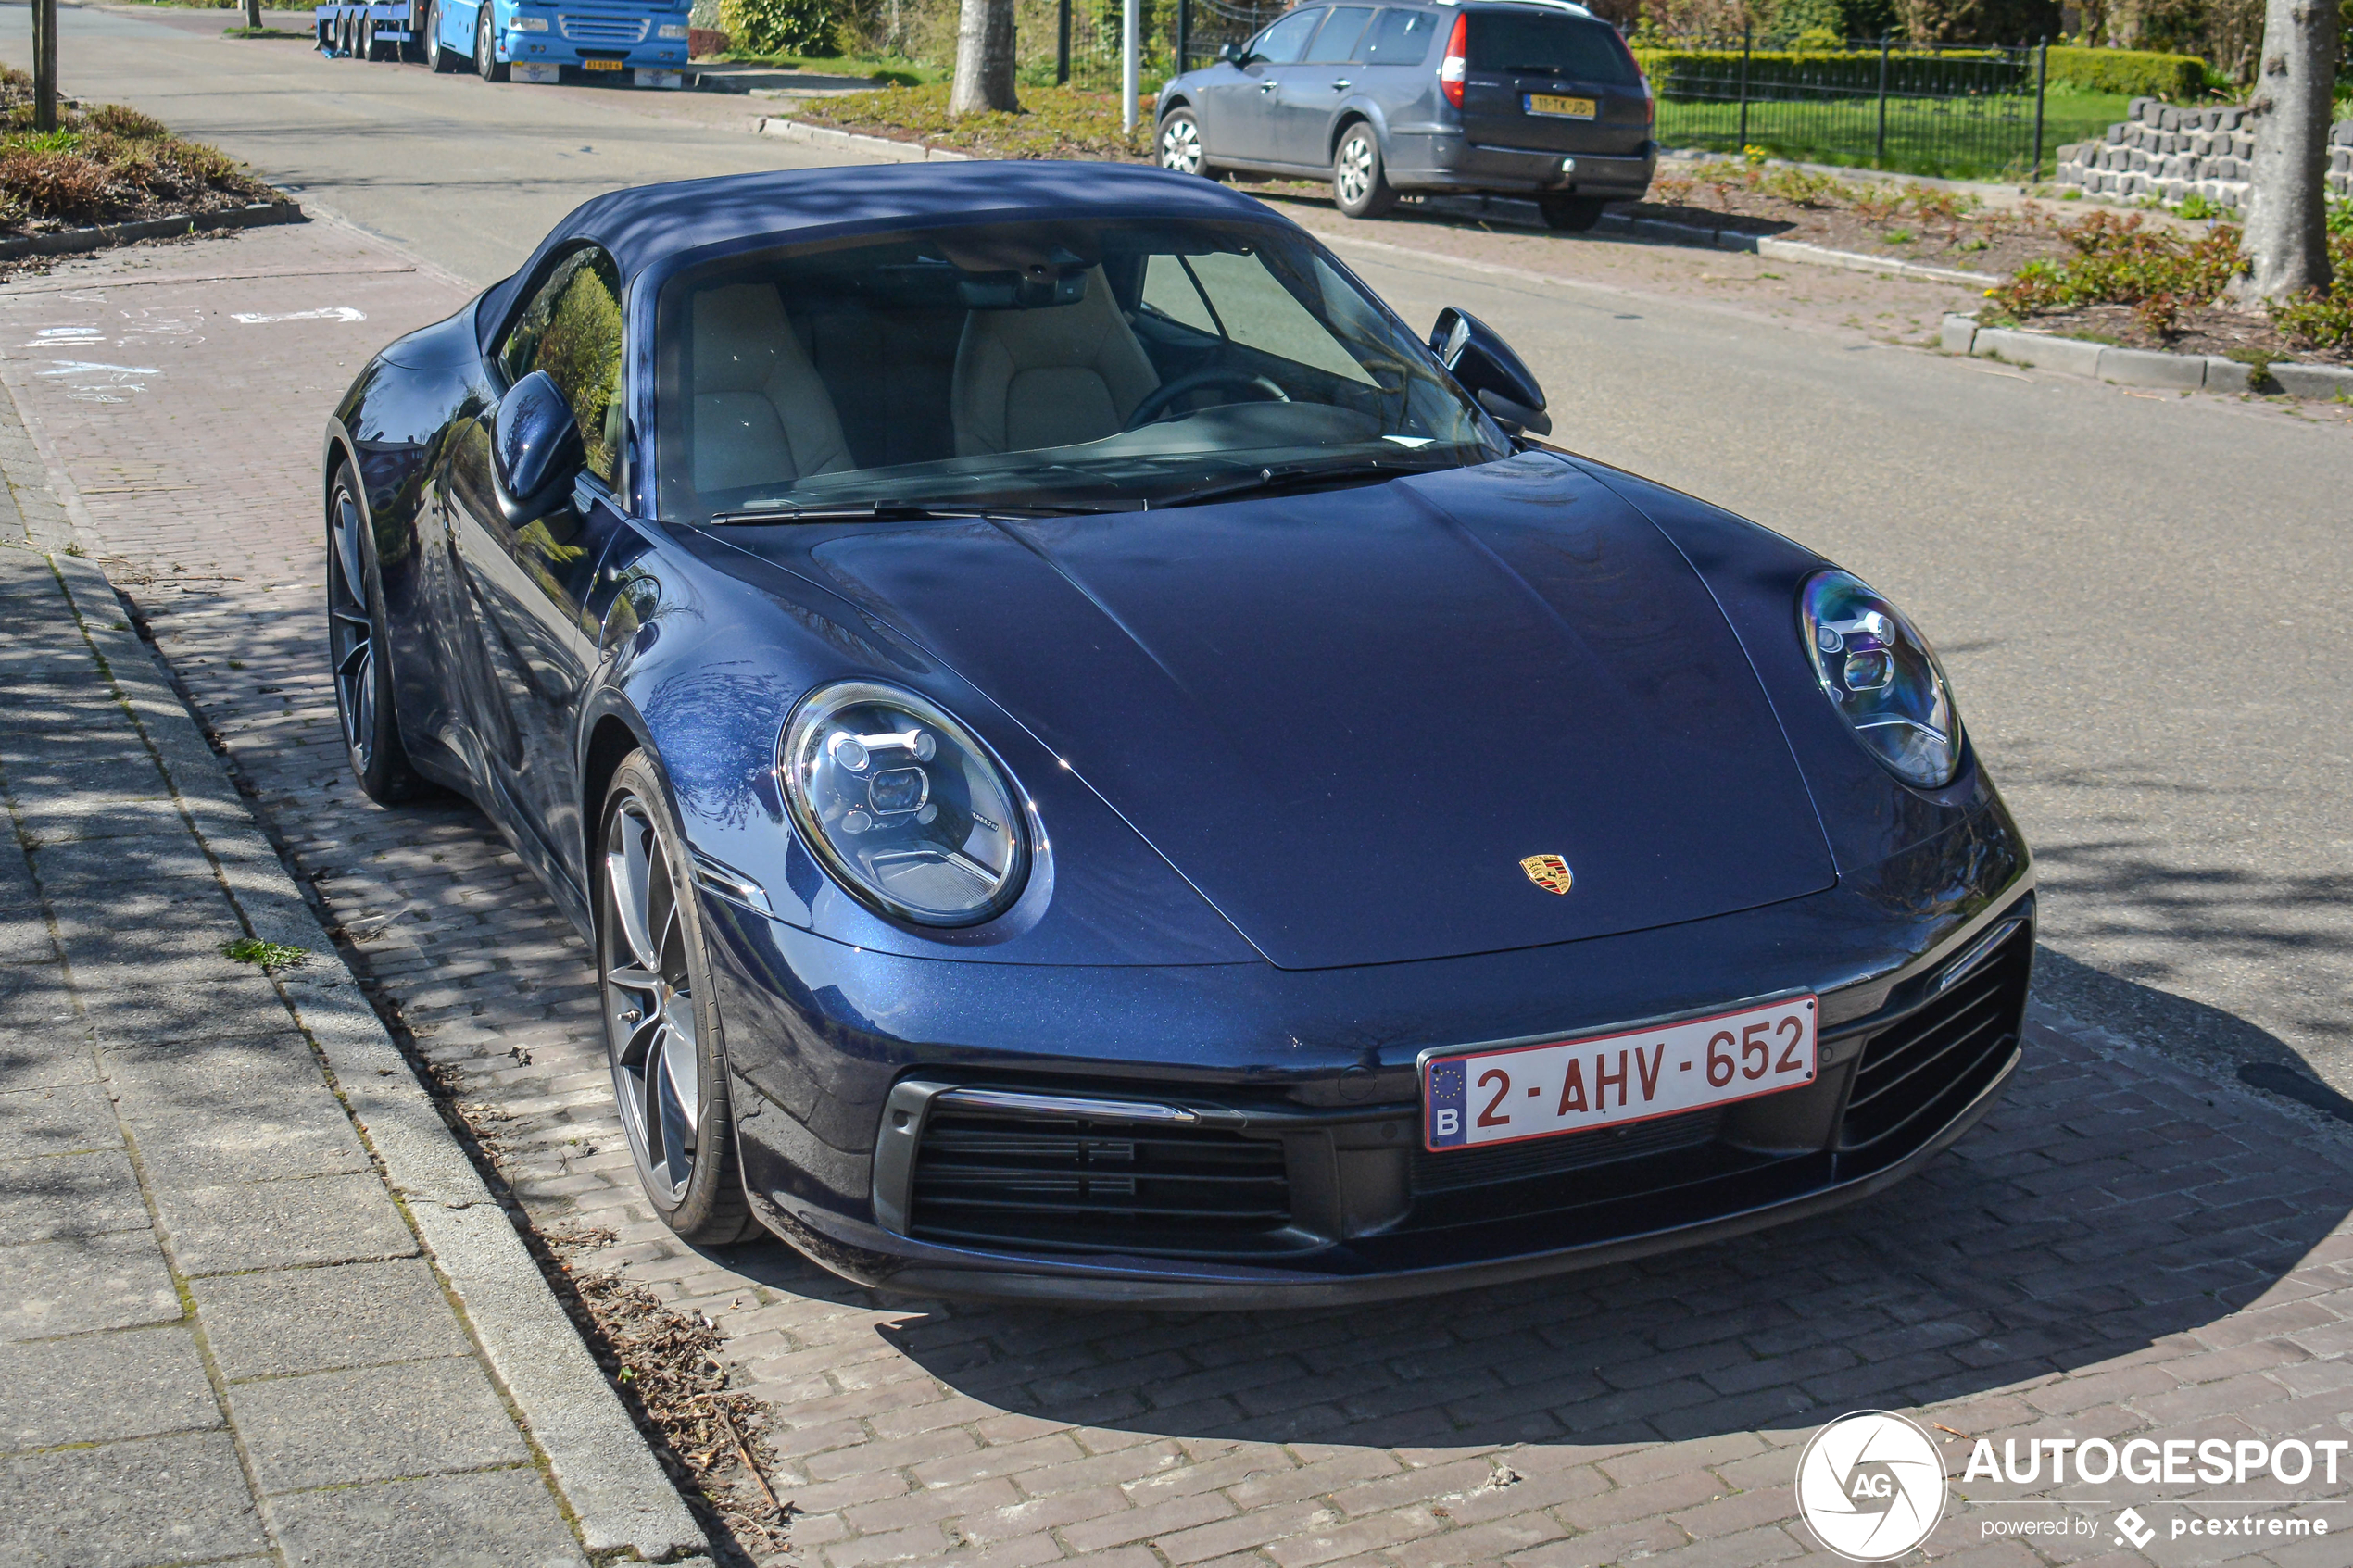
[[221, 1425], [195, 1335], [179, 1324], [16, 1345], [7, 1363], [0, 1450]]

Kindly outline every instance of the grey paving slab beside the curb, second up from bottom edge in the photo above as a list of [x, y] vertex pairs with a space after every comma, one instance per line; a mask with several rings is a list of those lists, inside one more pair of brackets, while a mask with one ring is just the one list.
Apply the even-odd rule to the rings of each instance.
[[235, 1382], [228, 1413], [264, 1493], [529, 1460], [473, 1356]]

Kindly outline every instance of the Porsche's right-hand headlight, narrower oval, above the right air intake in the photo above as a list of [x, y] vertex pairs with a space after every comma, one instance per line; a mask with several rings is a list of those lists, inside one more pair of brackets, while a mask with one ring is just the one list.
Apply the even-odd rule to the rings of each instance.
[[1960, 769], [1960, 717], [1944, 670], [1911, 621], [1845, 571], [1798, 595], [1798, 632], [1821, 691], [1854, 738], [1904, 783], [1934, 790]]

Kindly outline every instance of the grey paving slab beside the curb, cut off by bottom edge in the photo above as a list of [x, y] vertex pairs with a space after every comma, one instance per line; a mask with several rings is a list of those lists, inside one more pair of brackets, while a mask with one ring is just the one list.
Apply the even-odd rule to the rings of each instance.
[[579, 1568], [534, 1469], [339, 1486], [271, 1497], [294, 1568]]

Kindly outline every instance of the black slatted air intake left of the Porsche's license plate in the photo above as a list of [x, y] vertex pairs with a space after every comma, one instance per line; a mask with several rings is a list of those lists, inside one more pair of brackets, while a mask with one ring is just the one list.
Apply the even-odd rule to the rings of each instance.
[[1282, 1237], [1282, 1145], [1219, 1128], [934, 1107], [915, 1152], [911, 1229], [1026, 1251], [1235, 1255]]

